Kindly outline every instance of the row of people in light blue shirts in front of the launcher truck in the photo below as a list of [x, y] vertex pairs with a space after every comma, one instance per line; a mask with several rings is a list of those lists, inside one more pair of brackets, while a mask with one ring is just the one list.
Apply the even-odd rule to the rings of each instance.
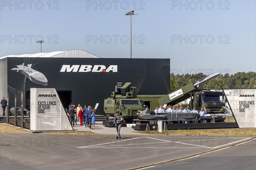
[[[193, 109], [190, 110], [189, 106], [185, 106], [185, 108], [183, 108], [183, 106], [176, 106], [175, 107], [175, 106], [172, 106], [172, 105], [169, 105], [169, 106], [166, 106], [166, 107], [163, 107], [163, 105], [160, 105], [159, 107], [156, 106], [154, 112], [155, 113], [163, 113], [163, 112], [167, 112], [167, 113], [175, 113], [175, 112], [179, 112], [179, 113], [198, 113], [198, 117], [194, 118], [193, 123], [198, 123], [198, 119], [200, 119], [200, 122], [206, 123], [207, 122], [207, 119], [206, 119], [207, 116], [204, 116], [204, 115], [208, 114], [206, 107], [201, 108], [201, 111], [198, 112], [195, 107], [193, 107]], [[188, 121], [188, 123], [189, 122], [190, 121]], [[180, 121], [178, 123], [180, 123]]]

